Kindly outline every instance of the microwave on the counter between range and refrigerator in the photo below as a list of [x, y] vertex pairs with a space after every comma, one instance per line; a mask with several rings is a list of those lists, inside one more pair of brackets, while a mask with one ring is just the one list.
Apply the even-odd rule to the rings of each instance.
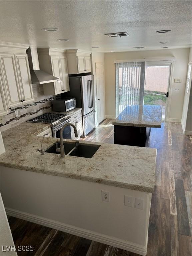
[[57, 100], [53, 100], [53, 111], [58, 112], [67, 112], [71, 109], [76, 108], [76, 99], [75, 98], [61, 98]]

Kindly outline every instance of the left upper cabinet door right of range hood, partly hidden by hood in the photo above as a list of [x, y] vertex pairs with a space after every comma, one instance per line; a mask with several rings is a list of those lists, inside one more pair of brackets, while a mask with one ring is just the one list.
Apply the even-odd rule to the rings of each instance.
[[52, 67], [53, 76], [56, 76], [61, 79], [61, 81], [54, 82], [55, 94], [59, 94], [63, 92], [59, 56], [50, 56], [50, 58], [51, 58], [51, 67]]

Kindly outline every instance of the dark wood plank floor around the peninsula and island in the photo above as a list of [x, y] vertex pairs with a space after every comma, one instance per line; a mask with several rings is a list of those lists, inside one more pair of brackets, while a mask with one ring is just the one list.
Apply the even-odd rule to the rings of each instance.
[[[83, 140], [113, 143], [112, 120], [104, 120]], [[180, 123], [152, 128], [150, 147], [157, 148], [147, 256], [191, 256], [191, 137]], [[15, 245], [34, 245], [32, 256], [136, 256], [38, 224], [9, 217]]]

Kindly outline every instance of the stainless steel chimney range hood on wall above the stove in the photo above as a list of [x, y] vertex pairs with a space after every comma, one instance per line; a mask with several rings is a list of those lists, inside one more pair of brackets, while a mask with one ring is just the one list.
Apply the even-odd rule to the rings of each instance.
[[46, 84], [50, 82], [60, 81], [60, 78], [52, 76], [39, 69], [39, 60], [36, 47], [29, 47], [27, 49], [27, 55], [29, 59], [32, 84]]

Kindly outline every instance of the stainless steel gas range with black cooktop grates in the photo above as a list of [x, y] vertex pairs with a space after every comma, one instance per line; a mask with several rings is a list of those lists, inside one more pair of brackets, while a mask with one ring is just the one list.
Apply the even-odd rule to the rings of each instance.
[[[59, 113], [45, 113], [36, 118], [30, 119], [28, 122], [32, 123], [46, 123], [51, 124], [52, 134], [55, 138], [60, 138], [60, 130], [71, 120], [70, 115], [59, 114]], [[71, 137], [71, 127], [66, 126], [63, 130], [63, 138], [64, 139], [72, 139]]]

